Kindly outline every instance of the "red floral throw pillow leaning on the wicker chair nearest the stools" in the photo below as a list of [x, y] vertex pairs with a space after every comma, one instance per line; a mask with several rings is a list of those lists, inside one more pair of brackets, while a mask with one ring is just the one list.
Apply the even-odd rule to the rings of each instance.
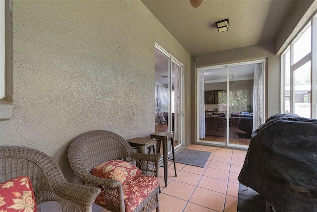
[[110, 160], [91, 169], [96, 177], [118, 180], [123, 184], [141, 174], [141, 170], [123, 160]]

